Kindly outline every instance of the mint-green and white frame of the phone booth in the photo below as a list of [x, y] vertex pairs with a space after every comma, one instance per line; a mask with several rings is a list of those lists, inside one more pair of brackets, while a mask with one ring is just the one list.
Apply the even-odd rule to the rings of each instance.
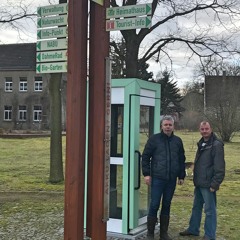
[[[110, 158], [110, 164], [121, 166], [122, 192], [120, 202], [121, 219], [111, 218], [107, 222], [107, 231], [119, 234], [132, 234], [146, 229], [147, 217], [139, 218], [139, 193], [140, 188], [140, 106], [150, 106], [153, 111], [152, 133], [160, 131], [160, 95], [161, 85], [137, 78], [112, 79], [111, 105], [123, 106], [122, 123], [122, 155]], [[118, 177], [119, 178], [119, 177]], [[111, 183], [110, 183], [111, 185]], [[115, 189], [113, 189], [115, 190]], [[113, 193], [110, 204], [117, 197]], [[114, 201], [111, 201], [114, 200]], [[111, 212], [111, 208], [110, 208]]]

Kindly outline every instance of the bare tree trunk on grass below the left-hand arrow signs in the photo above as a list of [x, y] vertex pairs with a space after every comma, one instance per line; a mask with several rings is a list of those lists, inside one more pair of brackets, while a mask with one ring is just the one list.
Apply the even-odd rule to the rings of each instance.
[[51, 183], [64, 180], [62, 162], [62, 101], [61, 73], [51, 74], [49, 82], [51, 141], [50, 141], [50, 177]]

